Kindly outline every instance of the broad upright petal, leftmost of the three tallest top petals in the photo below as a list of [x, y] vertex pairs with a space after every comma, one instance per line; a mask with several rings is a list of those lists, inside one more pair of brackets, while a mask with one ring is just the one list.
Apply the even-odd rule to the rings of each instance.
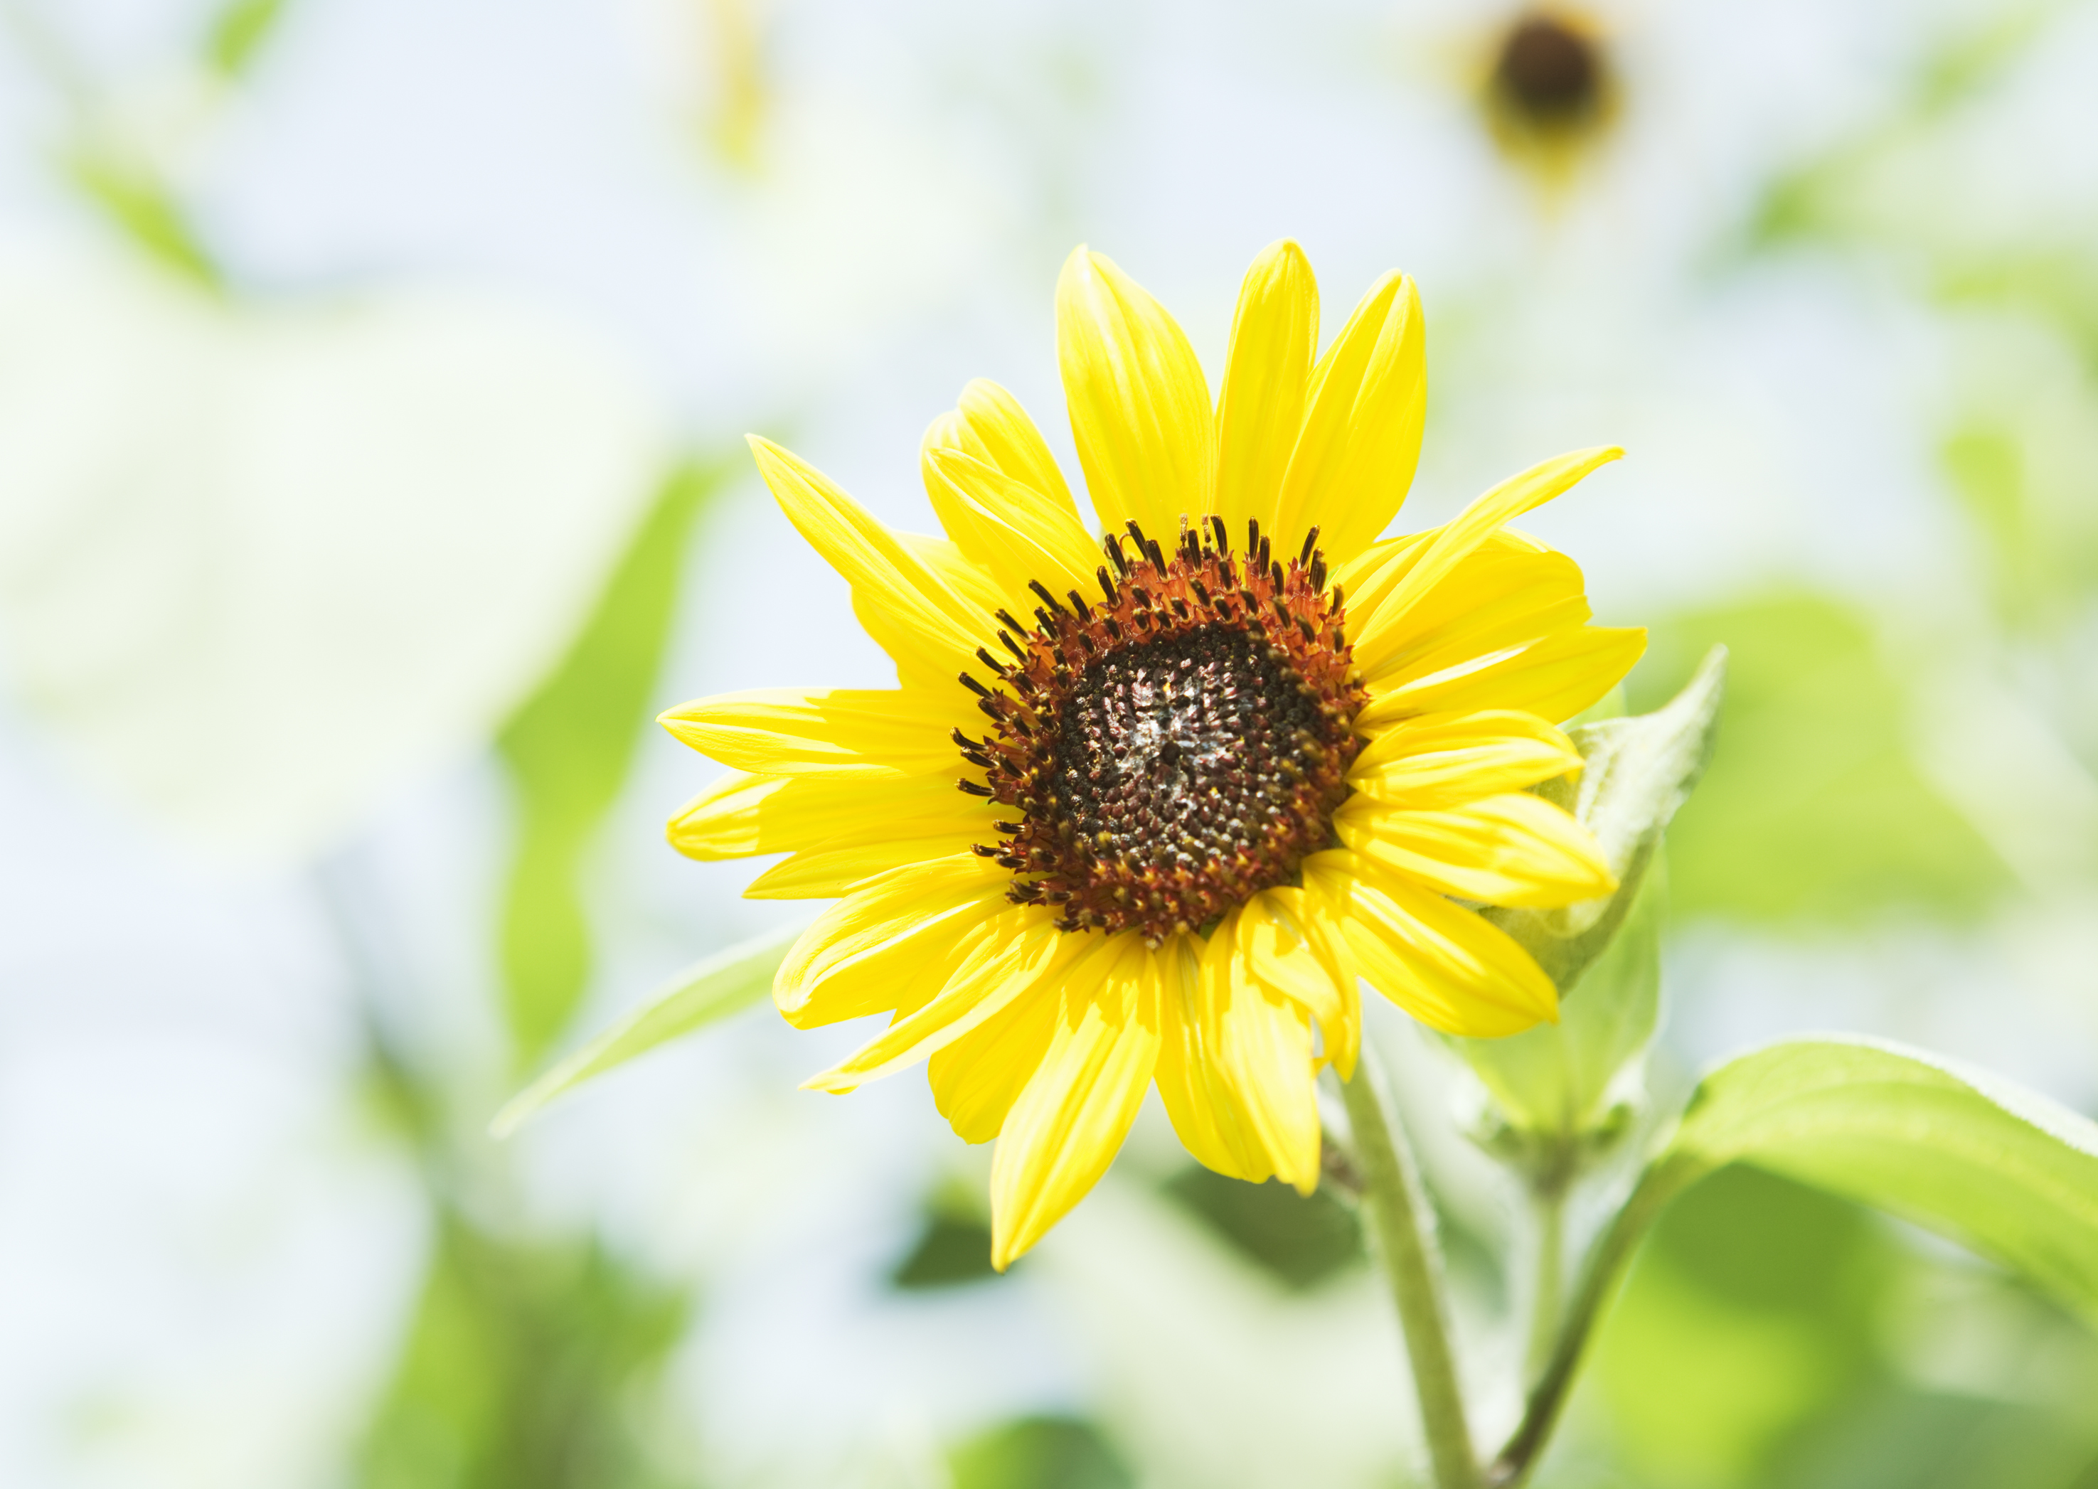
[[1171, 545], [1211, 510], [1217, 430], [1202, 363], [1173, 317], [1108, 258], [1076, 250], [1055, 285], [1057, 363], [1093, 512]]

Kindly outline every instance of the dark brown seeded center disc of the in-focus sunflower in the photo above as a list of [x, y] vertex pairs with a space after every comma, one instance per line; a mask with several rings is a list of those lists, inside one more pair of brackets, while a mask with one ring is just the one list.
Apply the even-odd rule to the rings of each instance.
[[978, 656], [1003, 688], [963, 677], [997, 728], [955, 742], [986, 774], [963, 791], [1020, 814], [976, 849], [1013, 870], [1011, 898], [1062, 906], [1066, 931], [1156, 944], [1332, 843], [1362, 688], [1315, 531], [1288, 564], [1257, 526], [1232, 554], [1215, 518], [1171, 558], [1131, 537], [1108, 539], [1101, 600], [1034, 585], [1036, 625], [999, 612], [1011, 661]]

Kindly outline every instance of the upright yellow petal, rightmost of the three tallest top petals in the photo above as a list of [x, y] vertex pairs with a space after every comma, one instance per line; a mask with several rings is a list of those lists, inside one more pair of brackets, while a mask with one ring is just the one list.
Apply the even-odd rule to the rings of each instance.
[[1420, 292], [1378, 279], [1311, 373], [1303, 434], [1276, 514], [1278, 547], [1320, 528], [1328, 562], [1368, 547], [1399, 512], [1420, 463], [1427, 363]]

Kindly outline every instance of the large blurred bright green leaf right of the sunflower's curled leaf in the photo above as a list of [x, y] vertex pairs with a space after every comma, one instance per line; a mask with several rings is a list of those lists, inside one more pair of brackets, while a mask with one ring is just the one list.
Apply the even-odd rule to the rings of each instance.
[[1668, 835], [1678, 914], [1811, 927], [1890, 910], [1972, 916], [2008, 883], [1981, 835], [1922, 778], [1907, 705], [1842, 604], [1779, 594], [1655, 627], [1634, 705], [1729, 648], [1727, 740]]

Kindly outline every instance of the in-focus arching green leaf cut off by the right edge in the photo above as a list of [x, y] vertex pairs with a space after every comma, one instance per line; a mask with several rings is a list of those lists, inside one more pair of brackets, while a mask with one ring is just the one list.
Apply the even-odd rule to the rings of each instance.
[[2098, 1325], [2098, 1122], [1876, 1040], [1787, 1040], [1699, 1082], [1641, 1189], [1746, 1162], [1899, 1214]]

